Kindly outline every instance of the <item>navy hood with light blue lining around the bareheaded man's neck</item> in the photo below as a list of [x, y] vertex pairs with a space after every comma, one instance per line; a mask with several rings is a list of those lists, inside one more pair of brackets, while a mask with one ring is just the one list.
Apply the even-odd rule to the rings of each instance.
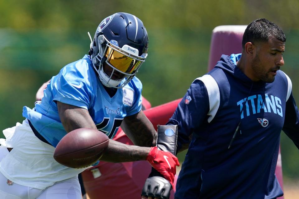
[[220, 61], [217, 62], [216, 68], [221, 68], [225, 73], [228, 73], [235, 78], [239, 79], [244, 84], [249, 84], [250, 86], [263, 86], [265, 82], [263, 81], [252, 81], [247, 77], [238, 67], [237, 62], [240, 60], [242, 54], [231, 54], [221, 55]]

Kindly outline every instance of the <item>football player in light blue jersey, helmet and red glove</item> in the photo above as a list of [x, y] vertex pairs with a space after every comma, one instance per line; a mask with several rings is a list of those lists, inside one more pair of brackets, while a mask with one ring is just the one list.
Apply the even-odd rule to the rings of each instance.
[[[110, 140], [101, 160], [147, 160], [173, 183], [177, 158], [156, 145], [157, 133], [141, 110], [135, 77], [147, 57], [148, 35], [140, 19], [115, 13], [98, 26], [88, 55], [53, 76], [26, 118], [3, 131], [0, 193], [4, 198], [81, 198], [78, 174], [53, 158], [66, 133], [94, 128], [113, 138], [120, 125], [136, 146]], [[99, 132], [101, 133], [101, 132]]]

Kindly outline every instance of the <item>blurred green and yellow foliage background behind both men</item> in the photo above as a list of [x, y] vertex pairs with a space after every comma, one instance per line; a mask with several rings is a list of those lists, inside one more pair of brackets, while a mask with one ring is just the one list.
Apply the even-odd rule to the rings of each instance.
[[[0, 129], [23, 120], [22, 107], [34, 106], [42, 83], [87, 54], [87, 32], [93, 36], [102, 19], [115, 12], [134, 14], [149, 34], [149, 56], [137, 77], [152, 106], [183, 97], [205, 74], [214, 27], [247, 25], [262, 17], [287, 36], [282, 70], [299, 100], [298, 0], [0, 0]], [[284, 180], [299, 179], [299, 152], [284, 133], [281, 152]]]

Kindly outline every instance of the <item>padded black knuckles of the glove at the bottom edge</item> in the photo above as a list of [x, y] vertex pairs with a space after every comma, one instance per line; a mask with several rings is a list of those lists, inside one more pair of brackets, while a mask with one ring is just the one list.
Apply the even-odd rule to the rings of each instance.
[[141, 195], [168, 199], [171, 189], [172, 186], [168, 180], [163, 177], [153, 176], [146, 179]]

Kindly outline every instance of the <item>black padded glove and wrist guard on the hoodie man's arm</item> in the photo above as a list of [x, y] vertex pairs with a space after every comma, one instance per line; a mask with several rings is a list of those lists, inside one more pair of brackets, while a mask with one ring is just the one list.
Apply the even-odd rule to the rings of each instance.
[[[156, 146], [163, 151], [176, 155], [178, 125], [159, 125]], [[173, 187], [162, 174], [152, 168], [149, 178], [146, 179], [141, 196], [169, 199]]]

